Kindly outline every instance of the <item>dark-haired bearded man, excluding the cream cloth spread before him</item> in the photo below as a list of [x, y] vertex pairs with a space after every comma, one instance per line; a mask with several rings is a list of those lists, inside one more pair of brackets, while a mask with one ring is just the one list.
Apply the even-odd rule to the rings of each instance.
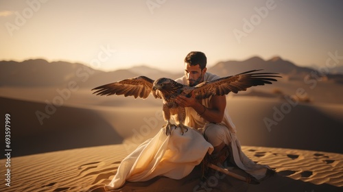
[[[201, 82], [218, 78], [220, 77], [206, 72], [205, 54], [192, 51], [185, 58], [185, 75], [178, 78], [176, 82], [196, 86]], [[265, 178], [271, 172], [268, 166], [254, 163], [241, 151], [235, 134], [235, 125], [226, 110], [225, 95], [214, 95], [201, 100], [180, 95], [176, 102], [186, 108], [185, 125], [200, 130], [204, 138], [213, 145], [211, 163], [215, 165], [219, 163], [222, 166], [224, 163], [233, 163], [258, 180]]]

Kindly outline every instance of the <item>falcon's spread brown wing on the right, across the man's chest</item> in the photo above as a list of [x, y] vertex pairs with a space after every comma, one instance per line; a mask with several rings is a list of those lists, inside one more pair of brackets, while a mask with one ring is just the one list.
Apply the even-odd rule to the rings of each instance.
[[238, 93], [238, 91], [246, 91], [251, 86], [272, 84], [272, 82], [277, 81], [273, 77], [281, 77], [276, 75], [278, 73], [254, 73], [257, 71], [261, 70], [246, 71], [209, 82], [202, 82], [195, 86], [193, 94], [196, 95], [196, 99], [205, 99], [211, 95]]

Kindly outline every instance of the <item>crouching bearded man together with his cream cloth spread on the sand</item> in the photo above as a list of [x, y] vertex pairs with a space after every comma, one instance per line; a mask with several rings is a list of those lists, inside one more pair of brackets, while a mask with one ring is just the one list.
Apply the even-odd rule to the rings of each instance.
[[[191, 52], [185, 58], [185, 75], [176, 81], [196, 86], [217, 78], [217, 75], [206, 72], [204, 53]], [[190, 98], [179, 96], [177, 103], [185, 107], [185, 125], [200, 130], [204, 137], [193, 129], [188, 130], [187, 136], [181, 132], [167, 136], [165, 128], [161, 129], [121, 161], [106, 189], [119, 189], [126, 181], [144, 182], [156, 176], [180, 180], [201, 163], [205, 154], [211, 152], [209, 159], [215, 165], [224, 167], [230, 162], [258, 180], [265, 178], [269, 167], [254, 163], [241, 151], [235, 125], [226, 110], [225, 96], [215, 95], [201, 100], [193, 95]]]

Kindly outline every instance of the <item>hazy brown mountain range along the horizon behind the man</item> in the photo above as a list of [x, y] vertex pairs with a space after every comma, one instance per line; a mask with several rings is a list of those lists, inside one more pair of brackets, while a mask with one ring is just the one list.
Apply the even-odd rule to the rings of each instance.
[[[281, 57], [263, 60], [257, 56], [243, 61], [218, 62], [213, 67], [209, 67], [207, 71], [224, 77], [252, 69], [281, 73], [287, 80], [303, 80], [306, 75], [311, 73], [320, 75], [315, 69], [299, 67], [292, 62], [283, 60]], [[342, 69], [343, 67], [335, 67], [335, 69], [330, 69], [333, 73], [322, 73], [320, 76], [325, 77], [326, 80], [342, 84]], [[85, 64], [64, 61], [47, 62], [47, 60], [43, 59], [24, 60], [23, 62], [0, 61], [0, 86], [61, 86], [75, 81], [80, 86], [89, 88], [139, 75], [145, 75], [153, 80], [158, 77], [176, 79], [182, 76], [182, 71], [175, 74], [139, 66], [106, 72], [92, 69]]]

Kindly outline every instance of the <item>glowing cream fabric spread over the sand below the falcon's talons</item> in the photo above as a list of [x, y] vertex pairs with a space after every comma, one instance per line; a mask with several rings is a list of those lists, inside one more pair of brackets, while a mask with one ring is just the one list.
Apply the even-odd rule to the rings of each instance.
[[182, 135], [180, 128], [172, 128], [171, 135], [165, 128], [148, 139], [123, 159], [117, 173], [106, 189], [118, 189], [126, 181], [147, 181], [156, 176], [181, 179], [199, 165], [206, 152], [213, 146], [197, 130], [189, 128]]

